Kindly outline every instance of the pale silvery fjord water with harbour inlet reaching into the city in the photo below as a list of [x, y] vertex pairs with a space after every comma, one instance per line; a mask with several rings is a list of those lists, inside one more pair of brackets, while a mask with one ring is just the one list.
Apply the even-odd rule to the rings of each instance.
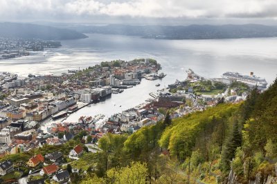
[[[216, 40], [158, 40], [122, 35], [87, 34], [89, 38], [62, 41], [62, 47], [31, 53], [28, 57], [0, 60], [0, 71], [21, 76], [32, 74], [61, 74], [78, 70], [101, 61], [153, 58], [168, 74], [162, 81], [143, 80], [141, 85], [112, 94], [110, 99], [83, 108], [68, 120], [81, 115], [111, 115], [148, 99], [149, 92], [163, 88], [176, 79], [185, 79], [188, 68], [204, 77], [220, 77], [222, 73], [254, 72], [272, 83], [277, 74], [277, 38], [216, 39]], [[156, 83], [161, 83], [159, 88]], [[121, 107], [119, 107], [121, 105]]]

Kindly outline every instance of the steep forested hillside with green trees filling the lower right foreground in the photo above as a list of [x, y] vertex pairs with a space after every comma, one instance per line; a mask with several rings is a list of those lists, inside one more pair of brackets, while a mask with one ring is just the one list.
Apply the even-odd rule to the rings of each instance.
[[277, 80], [262, 94], [253, 89], [243, 103], [172, 120], [167, 114], [129, 136], [107, 134], [99, 141], [102, 152], [73, 167], [88, 165], [82, 183], [248, 183], [270, 177], [274, 183], [276, 114]]

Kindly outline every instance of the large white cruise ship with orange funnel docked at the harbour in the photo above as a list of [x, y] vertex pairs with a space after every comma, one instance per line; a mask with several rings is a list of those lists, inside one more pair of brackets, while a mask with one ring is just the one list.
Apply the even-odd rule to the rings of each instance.
[[225, 72], [224, 74], [222, 74], [222, 76], [227, 79], [246, 83], [249, 86], [257, 85], [258, 88], [261, 89], [267, 88], [267, 81], [265, 81], [265, 79], [260, 78], [259, 76], [255, 76], [253, 72], [250, 72], [250, 75], [243, 75], [238, 72]]

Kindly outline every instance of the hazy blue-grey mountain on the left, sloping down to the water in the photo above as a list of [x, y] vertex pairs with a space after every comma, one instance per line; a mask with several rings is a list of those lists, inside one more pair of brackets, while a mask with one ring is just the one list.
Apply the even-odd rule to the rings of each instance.
[[85, 34], [75, 30], [54, 28], [31, 23], [0, 23], [0, 37], [21, 39], [64, 40], [84, 39]]

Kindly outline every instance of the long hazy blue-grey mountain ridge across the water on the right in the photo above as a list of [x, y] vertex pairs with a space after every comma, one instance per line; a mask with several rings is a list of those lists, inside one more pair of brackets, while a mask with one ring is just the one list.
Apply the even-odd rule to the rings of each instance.
[[71, 27], [83, 33], [123, 34], [152, 39], [240, 39], [277, 37], [277, 27], [244, 25], [82, 25]]

